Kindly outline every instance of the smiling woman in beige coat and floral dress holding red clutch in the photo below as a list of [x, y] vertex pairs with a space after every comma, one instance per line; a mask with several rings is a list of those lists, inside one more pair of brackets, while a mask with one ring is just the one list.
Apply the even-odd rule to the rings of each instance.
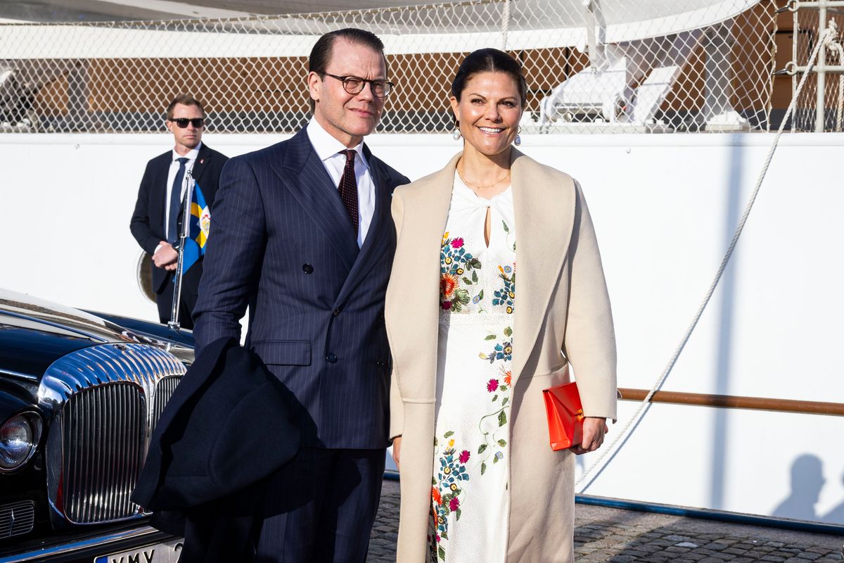
[[[452, 84], [451, 100], [464, 139], [463, 152], [454, 156], [443, 170], [398, 187], [393, 194], [392, 214], [398, 246], [385, 315], [393, 361], [390, 431], [394, 438], [393, 455], [401, 474], [399, 563], [423, 563], [431, 557], [446, 563], [570, 563], [573, 560], [574, 455], [597, 449], [606, 431], [604, 421], [615, 417], [613, 322], [592, 219], [576, 181], [511, 146], [514, 140], [518, 144], [525, 90], [521, 68], [506, 53], [484, 49], [469, 55]], [[459, 194], [458, 186], [462, 190]], [[518, 297], [515, 305], [506, 309], [512, 313], [511, 328], [507, 327], [508, 334], [512, 334], [512, 352], [502, 370], [507, 370], [509, 389], [506, 393], [495, 392], [499, 403], [500, 396], [507, 397], [507, 405], [502, 408], [506, 416], [499, 419], [507, 436], [497, 442], [506, 445], [499, 456], [504, 463], [495, 464], [496, 470], [502, 466], [507, 470], [503, 486], [506, 498], [488, 506], [485, 512], [478, 510], [473, 514], [467, 514], [464, 508], [468, 501], [455, 497], [463, 487], [485, 486], [483, 483], [490, 482], [479, 478], [486, 465], [481, 470], [477, 464], [473, 465], [486, 447], [467, 445], [458, 462], [453, 432], [446, 434], [443, 444], [443, 429], [438, 428], [443, 386], [449, 385], [449, 377], [460, 379], [449, 376], [444, 365], [448, 360], [443, 357], [447, 348], [443, 342], [443, 322], [448, 321], [442, 319], [447, 318], [446, 313], [455, 317], [461, 311], [460, 303], [463, 312], [474, 312], [465, 299], [460, 303], [457, 303], [459, 297], [451, 298], [457, 301], [446, 300], [446, 294], [453, 288], [446, 287], [443, 273], [446, 270], [441, 263], [446, 260], [444, 252], [456, 252], [464, 243], [469, 246], [468, 239], [453, 239], [446, 232], [446, 226], [452, 225], [450, 217], [458, 195], [472, 203], [474, 196], [466, 187], [475, 192], [481, 209], [486, 209], [485, 225], [481, 224], [484, 238], [479, 240], [485, 241], [487, 248], [499, 236], [490, 226], [496, 228], [503, 223], [506, 235], [511, 235], [511, 231], [517, 233], [517, 242], [507, 244], [515, 255], [512, 266], [518, 268], [518, 282], [510, 294]], [[503, 221], [490, 215], [490, 208], [494, 211], [496, 205], [503, 208], [509, 205], [510, 219], [506, 210]], [[508, 220], [515, 225], [508, 225]], [[481, 248], [477, 244], [474, 247]], [[475, 256], [479, 252], [483, 249]], [[454, 256], [457, 258], [457, 254]], [[473, 262], [472, 255], [468, 260], [465, 253], [460, 256], [466, 268], [480, 267], [478, 262]], [[447, 260], [450, 262], [451, 258]], [[461, 279], [471, 283], [463, 269], [457, 272], [463, 276]], [[500, 268], [500, 276], [508, 279], [505, 269]], [[515, 284], [515, 275], [512, 278]], [[473, 303], [478, 302], [477, 297], [483, 298], [482, 294], [476, 295]], [[457, 306], [457, 311], [452, 305]], [[505, 314], [503, 310], [501, 314]], [[453, 335], [452, 339], [455, 339]], [[495, 357], [490, 356], [492, 362]], [[463, 373], [467, 381], [473, 376], [469, 371]], [[587, 416], [584, 441], [573, 450], [553, 452], [549, 447], [542, 390], [568, 382], [573, 375]], [[485, 381], [487, 376], [482, 377]], [[490, 396], [495, 387], [505, 382], [503, 377], [495, 382], [493, 379], [485, 389]], [[470, 411], [471, 398], [460, 400], [463, 403], [457, 404], [466, 404], [467, 412]], [[459, 432], [455, 437], [461, 438]], [[435, 468], [436, 438], [438, 447], [452, 446], [451, 467], [465, 463], [466, 468], [472, 468], [466, 474], [471, 479], [466, 477], [466, 481], [452, 484], [453, 495], [450, 490], [443, 490], [451, 499], [452, 510], [442, 507], [439, 522], [432, 515], [436, 517], [437, 501], [443, 504], [436, 484], [437, 474], [442, 477], [441, 469], [446, 463], [442, 467], [437, 463]], [[457, 452], [461, 447], [457, 445]], [[493, 444], [493, 447], [498, 446]], [[446, 472], [450, 473], [451, 469]], [[468, 496], [483, 497], [477, 489]], [[463, 533], [460, 539], [463, 544], [459, 546], [454, 539], [454, 532], [459, 528], [454, 523], [459, 518], [458, 509], [463, 509], [464, 522], [475, 518], [473, 528]], [[480, 528], [492, 529], [479, 531], [478, 522]], [[438, 544], [433, 542], [440, 541], [441, 532], [448, 525], [452, 525], [451, 544], [449, 549], [440, 549], [438, 553]], [[477, 545], [473, 546], [473, 541]], [[495, 545], [490, 547], [490, 542]], [[457, 547], [452, 549], [452, 544]]]

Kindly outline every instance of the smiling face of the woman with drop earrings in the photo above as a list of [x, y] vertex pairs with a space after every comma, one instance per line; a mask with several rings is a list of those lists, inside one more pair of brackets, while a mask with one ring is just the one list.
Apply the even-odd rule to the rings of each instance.
[[477, 73], [466, 82], [460, 100], [452, 96], [451, 101], [460, 134], [479, 153], [500, 154], [516, 138], [522, 98], [510, 75]]

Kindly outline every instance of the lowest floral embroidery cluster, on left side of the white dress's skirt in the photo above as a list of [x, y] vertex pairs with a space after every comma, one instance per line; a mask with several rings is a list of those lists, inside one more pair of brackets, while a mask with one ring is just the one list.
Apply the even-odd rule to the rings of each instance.
[[[446, 441], [445, 449], [440, 454], [440, 467], [436, 477], [432, 480], [431, 494], [431, 520], [433, 522], [433, 533], [435, 541], [430, 542], [431, 547], [436, 545], [436, 557], [446, 560], [446, 549], [440, 544], [441, 539], [448, 539], [449, 517], [454, 515], [454, 520], [460, 520], [463, 511], [460, 508], [460, 499], [463, 489], [460, 486], [462, 481], [469, 480], [466, 470], [466, 463], [472, 454], [468, 450], [462, 450], [457, 454], [454, 447], [454, 432], [447, 431], [442, 435]], [[434, 448], [440, 446], [439, 440], [434, 439]], [[457, 454], [457, 455], [456, 455]]]

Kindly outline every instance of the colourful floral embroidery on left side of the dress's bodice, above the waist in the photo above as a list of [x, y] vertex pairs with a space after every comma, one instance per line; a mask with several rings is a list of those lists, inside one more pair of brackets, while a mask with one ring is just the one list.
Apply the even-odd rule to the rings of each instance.
[[[442, 235], [440, 306], [444, 311], [463, 311], [463, 306], [468, 305], [470, 299], [471, 286], [478, 284], [478, 272], [475, 270], [481, 268], [480, 260], [467, 252], [464, 244], [463, 237], [449, 238], [448, 231]], [[483, 299], [484, 290], [481, 289], [472, 301], [478, 304]]]

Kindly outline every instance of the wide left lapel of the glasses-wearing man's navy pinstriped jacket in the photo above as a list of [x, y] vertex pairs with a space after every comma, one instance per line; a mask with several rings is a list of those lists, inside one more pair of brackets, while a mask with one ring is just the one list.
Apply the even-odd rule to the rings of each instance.
[[284, 162], [273, 162], [273, 170], [311, 220], [325, 232], [345, 267], [351, 269], [359, 248], [349, 214], [305, 129], [289, 140]]

